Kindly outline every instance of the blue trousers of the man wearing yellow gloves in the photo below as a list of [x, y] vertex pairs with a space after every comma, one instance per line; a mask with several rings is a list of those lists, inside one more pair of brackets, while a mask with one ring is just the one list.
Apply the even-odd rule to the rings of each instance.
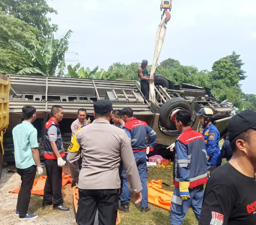
[[189, 188], [188, 190], [190, 199], [182, 200], [180, 197], [180, 189], [177, 187], [174, 189], [171, 198], [171, 225], [182, 225], [190, 205], [195, 213], [196, 219], [199, 219], [204, 197], [204, 187], [200, 185], [195, 188]]

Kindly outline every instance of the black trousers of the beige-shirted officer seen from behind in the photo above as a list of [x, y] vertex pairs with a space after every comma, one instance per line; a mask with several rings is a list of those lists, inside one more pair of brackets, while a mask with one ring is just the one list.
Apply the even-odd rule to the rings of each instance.
[[76, 220], [79, 225], [93, 225], [96, 210], [99, 225], [116, 225], [118, 210], [118, 189], [79, 189]]

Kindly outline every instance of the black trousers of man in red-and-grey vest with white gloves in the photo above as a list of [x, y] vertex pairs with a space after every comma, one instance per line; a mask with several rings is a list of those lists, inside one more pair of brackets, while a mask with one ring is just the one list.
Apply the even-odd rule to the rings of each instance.
[[46, 160], [46, 181], [44, 186], [43, 205], [63, 205], [62, 199], [62, 168], [57, 160]]

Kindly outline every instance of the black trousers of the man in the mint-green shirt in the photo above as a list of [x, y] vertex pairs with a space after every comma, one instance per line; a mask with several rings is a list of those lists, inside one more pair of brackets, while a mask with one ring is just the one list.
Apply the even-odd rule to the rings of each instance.
[[31, 189], [36, 175], [36, 165], [32, 165], [27, 169], [16, 168], [17, 173], [21, 177], [21, 188], [18, 195], [16, 210], [20, 212], [19, 217], [24, 218], [28, 212], [30, 202]]

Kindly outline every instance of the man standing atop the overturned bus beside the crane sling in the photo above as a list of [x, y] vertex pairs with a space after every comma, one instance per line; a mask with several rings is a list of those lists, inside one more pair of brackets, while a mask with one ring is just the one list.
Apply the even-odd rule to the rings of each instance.
[[138, 77], [140, 78], [140, 87], [146, 99], [149, 99], [149, 80], [154, 81], [154, 78], [148, 78], [150, 75], [147, 69], [148, 61], [142, 60], [141, 66], [138, 68]]

